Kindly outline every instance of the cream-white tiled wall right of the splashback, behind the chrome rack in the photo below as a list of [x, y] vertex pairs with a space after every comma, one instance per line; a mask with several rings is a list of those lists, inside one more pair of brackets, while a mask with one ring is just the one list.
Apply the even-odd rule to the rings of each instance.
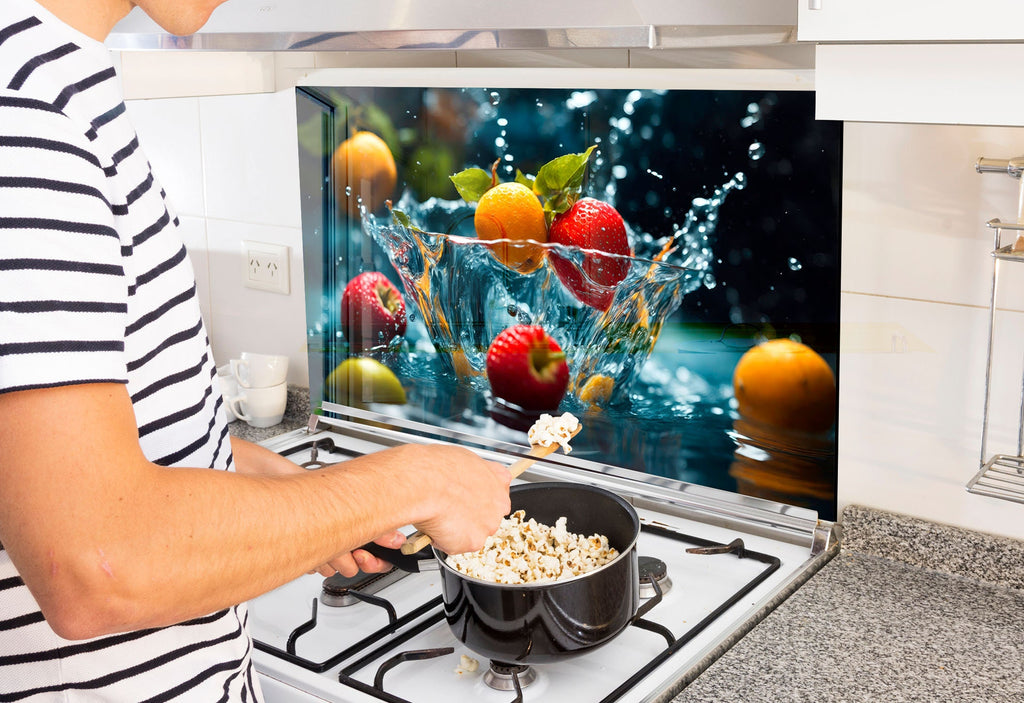
[[[847, 123], [840, 356], [842, 506], [1024, 538], [1024, 507], [968, 493], [981, 464], [993, 232], [1019, 183], [975, 172], [1024, 129]], [[1009, 239], [1008, 239], [1009, 240]], [[1017, 270], [1019, 268], [1019, 270]], [[1018, 453], [1024, 264], [1001, 265], [989, 452]]]

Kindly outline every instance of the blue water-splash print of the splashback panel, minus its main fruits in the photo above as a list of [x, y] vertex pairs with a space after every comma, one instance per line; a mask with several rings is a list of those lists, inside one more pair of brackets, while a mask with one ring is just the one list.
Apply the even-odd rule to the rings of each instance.
[[[380, 85], [296, 99], [314, 409], [521, 445], [532, 415], [496, 401], [484, 359], [503, 328], [539, 324], [568, 357], [550, 410], [583, 420], [570, 459], [835, 518], [835, 405], [813, 430], [765, 423], [739, 412], [733, 386], [744, 353], [776, 338], [838, 377], [842, 126], [814, 120], [812, 92]], [[394, 212], [334, 158], [360, 131], [394, 158], [383, 186]], [[506, 266], [451, 179], [479, 169], [534, 186], [546, 164], [591, 146], [573, 194], [613, 206], [633, 253], [607, 312], [552, 263], [587, 269], [586, 253], [549, 245], [537, 269]], [[375, 349], [342, 323], [345, 288], [365, 271], [387, 276], [408, 313]], [[332, 372], [351, 357], [384, 370], [345, 374], [342, 388]]]

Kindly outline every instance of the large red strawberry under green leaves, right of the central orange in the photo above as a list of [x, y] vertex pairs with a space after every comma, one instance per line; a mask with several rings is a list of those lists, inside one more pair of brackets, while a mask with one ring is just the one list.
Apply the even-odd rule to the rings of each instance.
[[[632, 254], [622, 215], [607, 203], [593, 197], [582, 197], [556, 215], [548, 231], [548, 241], [608, 254]], [[580, 302], [598, 310], [608, 309], [615, 287], [630, 270], [625, 259], [591, 253], [584, 257], [581, 267], [559, 255], [557, 249], [551, 251], [551, 264], [559, 280]]]

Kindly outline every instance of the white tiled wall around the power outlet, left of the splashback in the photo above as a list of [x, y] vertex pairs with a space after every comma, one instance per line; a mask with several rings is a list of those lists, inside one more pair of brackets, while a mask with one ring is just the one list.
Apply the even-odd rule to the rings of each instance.
[[[217, 363], [287, 354], [289, 383], [307, 386], [294, 91], [127, 104], [181, 219]], [[244, 239], [290, 248], [290, 295], [244, 287]]]

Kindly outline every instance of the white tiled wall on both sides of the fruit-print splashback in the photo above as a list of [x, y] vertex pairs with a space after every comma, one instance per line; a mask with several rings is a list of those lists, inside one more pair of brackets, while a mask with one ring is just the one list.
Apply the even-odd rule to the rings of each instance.
[[[129, 101], [177, 203], [218, 362], [243, 350], [285, 353], [289, 381], [306, 384], [294, 111], [291, 89]], [[1018, 195], [1016, 181], [978, 175], [974, 162], [1020, 153], [1024, 128], [847, 124], [841, 509], [855, 502], [1024, 538], [1024, 508], [965, 489], [980, 464], [985, 222], [1015, 219]], [[243, 238], [292, 248], [290, 296], [243, 287]], [[1017, 453], [1024, 265], [1004, 279], [990, 448]]]

